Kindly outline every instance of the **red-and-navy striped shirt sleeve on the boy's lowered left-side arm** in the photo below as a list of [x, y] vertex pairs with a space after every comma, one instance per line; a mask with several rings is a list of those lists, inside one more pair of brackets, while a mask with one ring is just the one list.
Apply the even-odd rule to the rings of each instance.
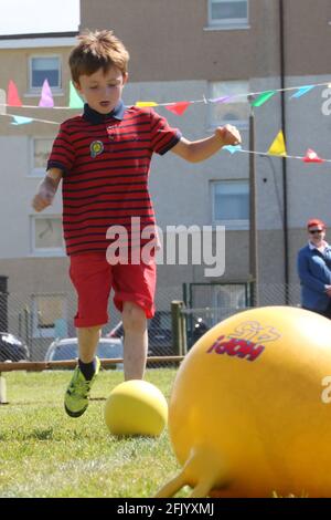
[[53, 148], [47, 162], [47, 169], [60, 168], [68, 174], [75, 160], [75, 150], [71, 142], [71, 134], [66, 124], [60, 126], [60, 132], [54, 139]]

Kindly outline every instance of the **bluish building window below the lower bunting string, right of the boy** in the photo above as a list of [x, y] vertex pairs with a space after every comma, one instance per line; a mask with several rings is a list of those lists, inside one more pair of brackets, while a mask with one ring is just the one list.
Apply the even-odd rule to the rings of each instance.
[[248, 179], [213, 180], [211, 185], [213, 223], [227, 229], [248, 229]]

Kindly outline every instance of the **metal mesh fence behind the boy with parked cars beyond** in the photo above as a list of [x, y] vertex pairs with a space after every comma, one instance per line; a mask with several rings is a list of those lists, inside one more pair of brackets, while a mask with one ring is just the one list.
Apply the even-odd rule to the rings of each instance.
[[[300, 287], [259, 285], [259, 305], [300, 304]], [[149, 355], [175, 354], [171, 302], [185, 300], [188, 349], [211, 326], [250, 306], [246, 284], [191, 284], [159, 288], [157, 313], [149, 320]], [[62, 361], [77, 357], [74, 314], [76, 295], [62, 293], [0, 293], [0, 362]], [[102, 357], [122, 356], [121, 316], [109, 301], [110, 320], [103, 327]]]

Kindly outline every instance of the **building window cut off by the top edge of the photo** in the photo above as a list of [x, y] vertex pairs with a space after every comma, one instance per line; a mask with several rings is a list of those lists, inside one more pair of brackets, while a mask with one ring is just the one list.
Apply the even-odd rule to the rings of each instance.
[[247, 27], [248, 0], [209, 0], [210, 27]]

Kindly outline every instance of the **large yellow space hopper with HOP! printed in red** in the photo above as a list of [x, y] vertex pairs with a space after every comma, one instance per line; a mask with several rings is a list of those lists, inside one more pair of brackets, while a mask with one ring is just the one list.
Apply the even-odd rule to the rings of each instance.
[[174, 381], [169, 433], [183, 469], [157, 497], [185, 485], [195, 498], [331, 497], [330, 376], [331, 321], [319, 314], [269, 306], [214, 326]]

